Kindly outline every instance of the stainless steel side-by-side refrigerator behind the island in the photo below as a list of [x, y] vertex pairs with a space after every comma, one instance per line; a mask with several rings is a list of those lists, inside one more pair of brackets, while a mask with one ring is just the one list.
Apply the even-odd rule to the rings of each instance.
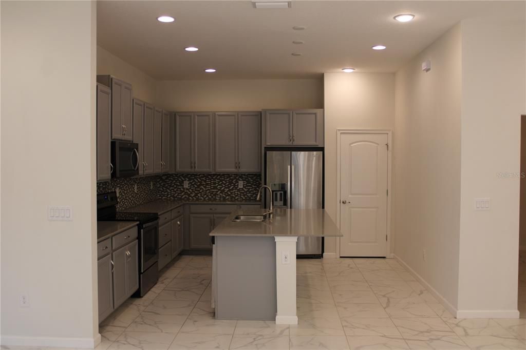
[[[323, 151], [266, 150], [265, 159], [265, 183], [276, 208], [323, 208]], [[321, 237], [298, 238], [297, 255], [321, 256], [321, 250]]]

